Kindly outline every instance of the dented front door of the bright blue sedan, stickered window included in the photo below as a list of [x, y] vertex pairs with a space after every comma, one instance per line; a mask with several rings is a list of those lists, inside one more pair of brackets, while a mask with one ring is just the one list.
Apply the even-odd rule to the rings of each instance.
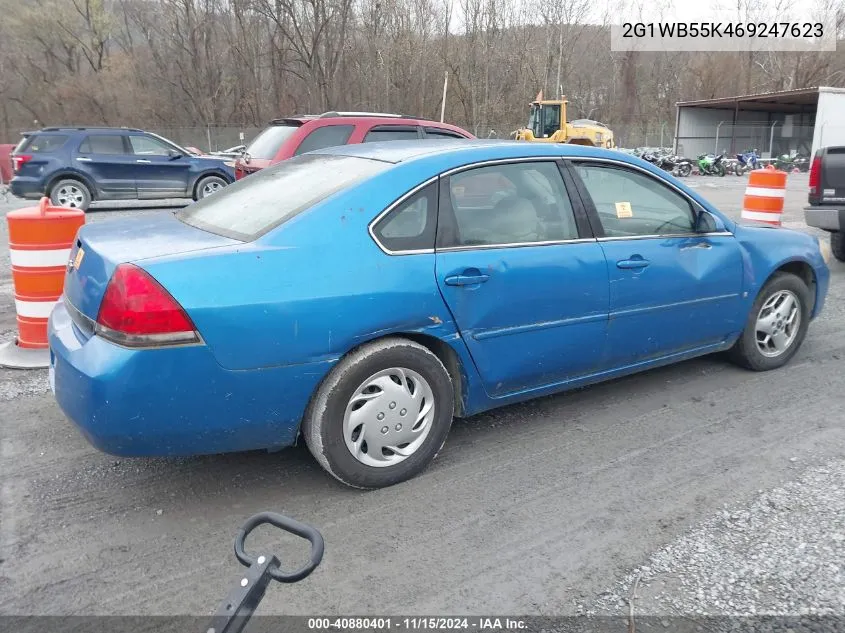
[[743, 327], [739, 245], [715, 216], [645, 169], [573, 161], [607, 257], [612, 366], [722, 343]]

